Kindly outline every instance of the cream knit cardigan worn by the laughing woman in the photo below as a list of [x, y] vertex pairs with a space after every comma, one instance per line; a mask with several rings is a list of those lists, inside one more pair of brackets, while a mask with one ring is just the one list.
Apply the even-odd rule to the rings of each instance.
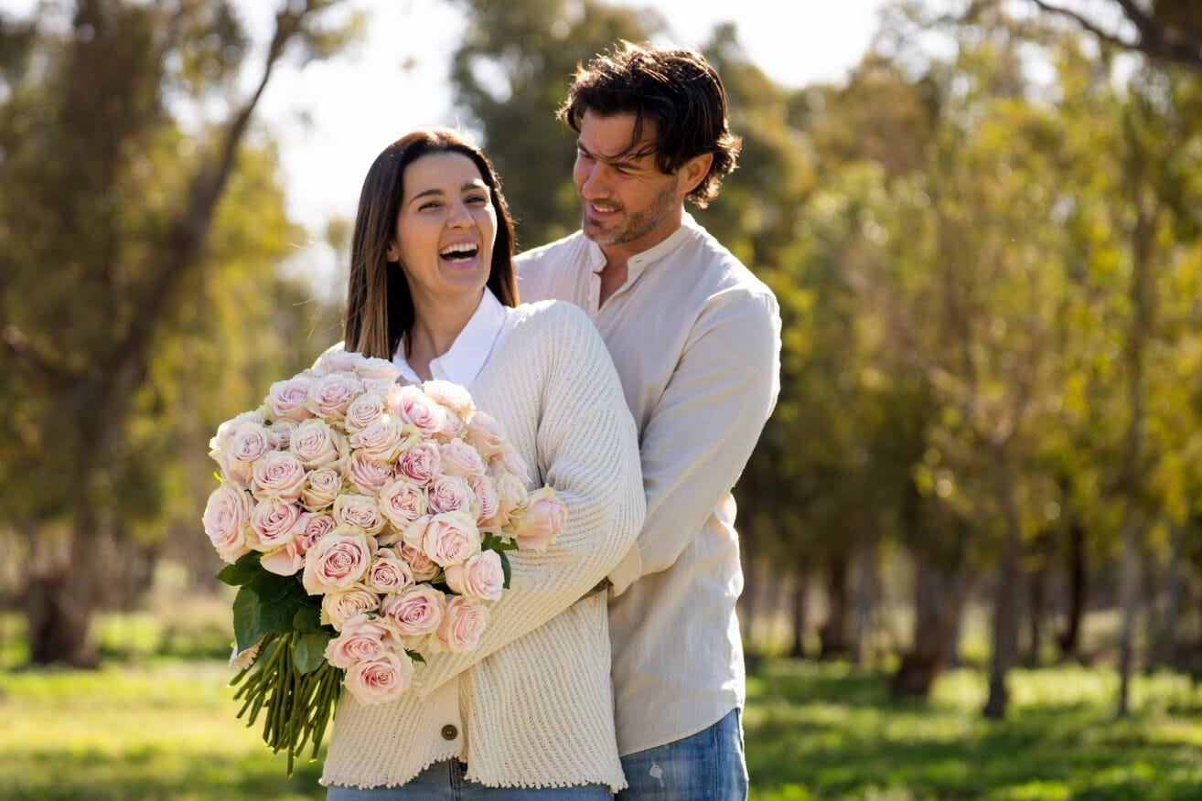
[[[436, 761], [468, 763], [492, 787], [626, 785], [609, 682], [606, 593], [582, 599], [643, 522], [633, 419], [601, 336], [566, 303], [523, 305], [469, 387], [531, 472], [567, 506], [545, 552], [510, 551], [512, 581], [470, 653], [427, 654], [400, 699], [344, 692], [321, 783], [398, 785]], [[462, 727], [448, 742], [447, 723]]]

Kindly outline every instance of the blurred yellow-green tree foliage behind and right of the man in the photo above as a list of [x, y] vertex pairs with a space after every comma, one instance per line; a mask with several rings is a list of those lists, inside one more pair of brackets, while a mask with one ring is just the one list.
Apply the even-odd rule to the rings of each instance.
[[[670, 31], [609, 5], [469, 7], [453, 79], [535, 246], [578, 215], [553, 121], [570, 65]], [[785, 586], [821, 579], [822, 651], [856, 651], [852, 606], [882, 603], [904, 558], [927, 692], [965, 593], [992, 591], [1001, 709], [1020, 623], [1030, 653], [1055, 634], [1082, 656], [1079, 615], [1120, 599], [1123, 564], [1144, 576], [1131, 604], [1174, 610], [1177, 628], [1136, 629], [1146, 658], [1202, 640], [1202, 576], [1179, 558], [1202, 448], [1202, 85], [1064, 22], [897, 4], [841, 85], [774, 84], [733, 25], [702, 48], [744, 149], [695, 214], [785, 324], [781, 396], [736, 488], [746, 594], [783, 610]], [[933, 31], [946, 47], [923, 47]], [[813, 621], [784, 611], [801, 642]]]

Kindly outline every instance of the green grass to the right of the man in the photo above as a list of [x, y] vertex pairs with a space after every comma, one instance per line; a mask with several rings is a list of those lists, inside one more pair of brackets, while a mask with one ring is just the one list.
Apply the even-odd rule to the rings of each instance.
[[1014, 670], [1005, 721], [984, 719], [984, 677], [944, 676], [929, 700], [894, 701], [845, 665], [772, 663], [749, 680], [751, 797], [1198, 799], [1202, 718], [1189, 679], [1141, 676], [1114, 716], [1118, 679], [1083, 668]]

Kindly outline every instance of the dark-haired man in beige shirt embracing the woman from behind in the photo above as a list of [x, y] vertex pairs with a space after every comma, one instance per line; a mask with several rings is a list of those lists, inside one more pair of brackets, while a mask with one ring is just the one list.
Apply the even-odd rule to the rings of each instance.
[[582, 229], [518, 259], [523, 301], [582, 306], [639, 430], [647, 520], [609, 576], [624, 801], [746, 797], [743, 588], [731, 488], [775, 405], [772, 292], [685, 211], [733, 168], [721, 80], [692, 49], [625, 43], [577, 72]]

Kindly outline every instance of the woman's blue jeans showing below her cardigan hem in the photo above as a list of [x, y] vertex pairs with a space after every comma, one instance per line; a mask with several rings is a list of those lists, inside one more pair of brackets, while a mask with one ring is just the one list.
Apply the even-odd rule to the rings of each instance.
[[400, 787], [332, 787], [326, 801], [612, 801], [603, 784], [578, 787], [486, 787], [464, 778], [468, 766], [457, 759], [434, 763]]

